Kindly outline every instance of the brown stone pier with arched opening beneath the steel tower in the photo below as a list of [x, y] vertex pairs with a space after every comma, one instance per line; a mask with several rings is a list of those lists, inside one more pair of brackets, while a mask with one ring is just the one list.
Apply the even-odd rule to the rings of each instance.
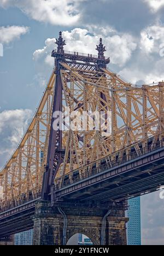
[[75, 234], [89, 237], [93, 245], [127, 245], [126, 204], [58, 203], [38, 201], [34, 222], [34, 245], [67, 245]]

